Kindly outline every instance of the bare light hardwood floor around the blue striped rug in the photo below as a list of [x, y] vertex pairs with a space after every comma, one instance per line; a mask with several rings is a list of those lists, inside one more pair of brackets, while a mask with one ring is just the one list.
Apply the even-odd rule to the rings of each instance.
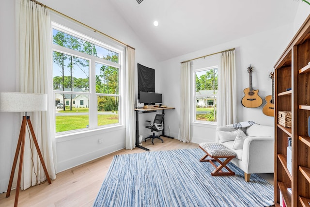
[[[151, 151], [171, 149], [198, 148], [195, 143], [181, 143], [176, 139], [162, 137], [164, 143], [155, 139], [143, 142]], [[87, 162], [56, 175], [52, 184], [43, 183], [25, 191], [19, 191], [18, 207], [92, 207], [114, 155], [147, 153], [145, 150], [122, 149], [99, 159]], [[0, 194], [0, 207], [13, 207], [15, 190], [9, 198], [6, 193]]]

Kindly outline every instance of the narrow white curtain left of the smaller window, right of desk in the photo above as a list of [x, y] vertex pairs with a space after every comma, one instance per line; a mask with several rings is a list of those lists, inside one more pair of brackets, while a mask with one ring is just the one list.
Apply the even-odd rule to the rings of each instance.
[[178, 139], [191, 142], [190, 135], [190, 62], [181, 63], [181, 110]]

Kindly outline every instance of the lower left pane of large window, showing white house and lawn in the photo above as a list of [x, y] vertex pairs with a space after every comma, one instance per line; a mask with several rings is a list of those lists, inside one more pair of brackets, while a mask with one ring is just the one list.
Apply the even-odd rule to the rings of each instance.
[[[74, 104], [80, 101], [87, 105]], [[56, 94], [56, 132], [89, 127], [88, 103], [88, 95]]]

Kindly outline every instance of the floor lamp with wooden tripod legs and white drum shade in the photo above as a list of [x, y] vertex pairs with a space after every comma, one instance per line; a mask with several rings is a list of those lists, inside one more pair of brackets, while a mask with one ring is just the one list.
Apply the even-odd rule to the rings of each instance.
[[45, 175], [47, 177], [48, 184], [51, 184], [51, 180], [47, 173], [47, 168], [45, 166], [37, 139], [35, 137], [33, 127], [31, 125], [30, 116], [27, 116], [27, 111], [47, 111], [47, 95], [46, 94], [31, 94], [31, 93], [18, 93], [18, 92], [0, 92], [0, 111], [3, 112], [25, 112], [23, 116], [22, 124], [19, 132], [18, 143], [16, 147], [16, 153], [13, 161], [11, 176], [9, 180], [8, 190], [6, 192], [6, 197], [10, 196], [12, 183], [14, 178], [14, 173], [16, 169], [18, 155], [19, 157], [19, 167], [18, 167], [18, 177], [16, 185], [16, 194], [15, 194], [15, 203], [14, 206], [17, 207], [19, 187], [21, 181], [21, 172], [23, 167], [23, 158], [24, 158], [24, 148], [25, 148], [25, 136], [27, 124], [31, 131], [31, 136], [33, 143], [38, 152], [41, 164], [43, 166]]

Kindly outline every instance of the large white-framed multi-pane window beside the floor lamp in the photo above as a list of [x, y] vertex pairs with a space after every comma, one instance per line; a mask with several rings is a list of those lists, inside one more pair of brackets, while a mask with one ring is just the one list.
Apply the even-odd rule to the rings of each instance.
[[56, 132], [120, 125], [123, 51], [52, 26]]

